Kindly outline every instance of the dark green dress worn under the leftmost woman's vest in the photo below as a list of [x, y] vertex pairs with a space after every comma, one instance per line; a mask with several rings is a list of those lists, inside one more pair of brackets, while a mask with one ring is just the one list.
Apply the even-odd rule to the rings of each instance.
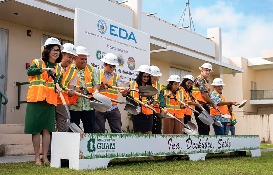
[[[46, 67], [55, 68], [56, 63], [47, 61]], [[36, 64], [32, 64], [27, 70], [28, 76], [34, 76], [41, 74], [41, 68], [37, 68]], [[48, 77], [50, 75], [48, 74]], [[62, 76], [58, 81], [62, 82]], [[50, 132], [54, 132], [56, 107], [53, 104], [48, 104], [46, 99], [37, 102], [28, 102], [26, 108], [25, 118], [25, 134], [38, 134], [43, 128], [48, 129]]]

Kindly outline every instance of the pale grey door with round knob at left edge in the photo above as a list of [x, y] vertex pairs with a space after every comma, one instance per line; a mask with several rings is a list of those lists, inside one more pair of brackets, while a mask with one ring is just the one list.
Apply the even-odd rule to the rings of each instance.
[[[8, 30], [1, 29], [1, 37], [0, 37], [0, 55], [1, 55], [1, 61], [0, 61], [0, 89], [1, 91], [7, 95], [6, 91], [6, 84], [7, 84], [7, 50], [8, 50]], [[2, 102], [4, 101], [4, 98], [2, 98]], [[6, 105], [1, 105], [1, 120], [0, 123], [6, 123]]]

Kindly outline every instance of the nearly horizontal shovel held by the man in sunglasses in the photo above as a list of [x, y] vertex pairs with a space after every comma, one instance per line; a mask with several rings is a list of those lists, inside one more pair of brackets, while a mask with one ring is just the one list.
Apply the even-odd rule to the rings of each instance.
[[[101, 83], [101, 84], [104, 84], [108, 88], [112, 88], [112, 89], [122, 89], [122, 90], [125, 89], [123, 87], [110, 86], [107, 83]], [[151, 96], [154, 96], [154, 95], [156, 95], [158, 93], [157, 88], [155, 88], [153, 86], [139, 86], [138, 88], [139, 88], [139, 90], [136, 90], [136, 89], [130, 89], [130, 90], [139, 93], [139, 95], [141, 97], [151, 97]]]

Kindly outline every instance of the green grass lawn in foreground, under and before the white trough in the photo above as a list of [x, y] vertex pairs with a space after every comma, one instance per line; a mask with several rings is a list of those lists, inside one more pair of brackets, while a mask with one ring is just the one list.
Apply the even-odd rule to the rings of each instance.
[[114, 159], [108, 168], [95, 170], [74, 170], [50, 168], [49, 165], [34, 165], [34, 162], [1, 164], [2, 174], [272, 174], [273, 152], [261, 152], [261, 157], [231, 156], [229, 153], [207, 155], [206, 160], [189, 161], [188, 158], [165, 160]]

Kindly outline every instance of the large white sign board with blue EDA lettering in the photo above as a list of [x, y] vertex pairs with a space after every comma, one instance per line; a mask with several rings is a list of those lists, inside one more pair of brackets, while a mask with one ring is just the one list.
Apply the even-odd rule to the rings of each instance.
[[100, 59], [106, 53], [115, 54], [119, 63], [115, 72], [124, 82], [136, 78], [141, 64], [150, 65], [148, 34], [80, 8], [75, 9], [74, 44], [87, 48], [88, 64], [96, 70], [103, 68]]

